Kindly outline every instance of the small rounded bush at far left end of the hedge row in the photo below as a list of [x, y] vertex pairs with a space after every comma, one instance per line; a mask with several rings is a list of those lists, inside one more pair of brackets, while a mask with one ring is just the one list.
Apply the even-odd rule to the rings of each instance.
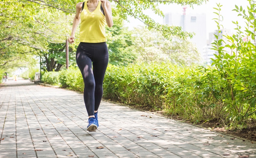
[[42, 82], [52, 85], [58, 85], [60, 83], [59, 72], [45, 72], [44, 75], [42, 75]]

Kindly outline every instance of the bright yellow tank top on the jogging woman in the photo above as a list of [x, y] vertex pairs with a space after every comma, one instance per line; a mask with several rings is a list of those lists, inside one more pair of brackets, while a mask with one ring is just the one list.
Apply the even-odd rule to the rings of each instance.
[[101, 2], [99, 0], [97, 8], [93, 12], [88, 10], [87, 2], [88, 0], [84, 2], [84, 9], [80, 15], [81, 25], [79, 42], [107, 42], [105, 33], [106, 18], [100, 10]]

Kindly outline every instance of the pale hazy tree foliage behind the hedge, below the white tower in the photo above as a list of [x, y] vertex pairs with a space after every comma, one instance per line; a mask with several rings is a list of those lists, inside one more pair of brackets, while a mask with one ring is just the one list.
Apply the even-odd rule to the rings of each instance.
[[157, 31], [145, 31], [144, 27], [134, 28], [134, 52], [138, 54], [138, 61], [150, 62], [172, 62], [180, 65], [191, 65], [199, 63], [200, 53], [194, 43], [172, 36], [167, 40]]

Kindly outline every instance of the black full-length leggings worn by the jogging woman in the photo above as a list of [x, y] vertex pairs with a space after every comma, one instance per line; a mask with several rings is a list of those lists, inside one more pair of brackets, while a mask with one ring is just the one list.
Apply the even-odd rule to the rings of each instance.
[[84, 79], [84, 103], [88, 116], [94, 116], [94, 111], [100, 106], [102, 84], [108, 66], [106, 42], [81, 42], [76, 51], [76, 63]]

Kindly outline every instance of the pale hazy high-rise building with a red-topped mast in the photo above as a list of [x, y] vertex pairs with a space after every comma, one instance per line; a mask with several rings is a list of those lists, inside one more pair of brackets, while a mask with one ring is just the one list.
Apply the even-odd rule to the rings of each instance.
[[167, 25], [180, 26], [184, 31], [194, 32], [196, 35], [191, 39], [196, 44], [197, 49], [203, 57], [204, 47], [207, 45], [206, 37], [206, 14], [186, 12], [186, 7], [183, 7], [183, 12], [169, 12], [165, 14], [163, 23]]

